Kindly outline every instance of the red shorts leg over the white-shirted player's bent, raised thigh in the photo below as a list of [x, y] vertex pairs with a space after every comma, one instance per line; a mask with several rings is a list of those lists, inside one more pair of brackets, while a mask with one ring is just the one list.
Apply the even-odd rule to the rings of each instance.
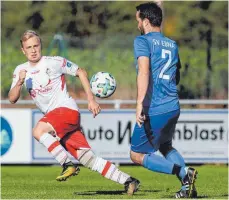
[[56, 108], [47, 113], [40, 121], [50, 124], [56, 135], [62, 138], [65, 134], [80, 127], [80, 113], [65, 107]]

